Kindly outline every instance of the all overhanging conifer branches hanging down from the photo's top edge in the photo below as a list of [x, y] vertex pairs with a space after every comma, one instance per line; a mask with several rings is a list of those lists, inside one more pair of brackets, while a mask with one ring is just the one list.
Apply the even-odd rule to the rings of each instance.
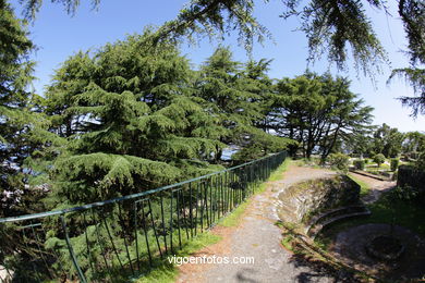
[[[22, 1], [25, 5], [24, 13], [28, 19], [34, 19], [42, 0]], [[68, 13], [74, 13], [78, 0], [61, 0]], [[92, 0], [94, 7], [100, 0]], [[303, 3], [303, 5], [301, 5]], [[329, 62], [336, 63], [338, 69], [344, 69], [348, 51], [352, 51], [354, 67], [373, 77], [376, 69], [382, 62], [387, 62], [387, 56], [373, 29], [365, 4], [387, 12], [385, 1], [374, 0], [311, 0], [300, 2], [298, 0], [282, 1], [282, 8], [287, 9], [282, 17], [299, 16], [300, 29], [306, 34], [309, 48], [309, 61], [327, 54]], [[265, 37], [271, 37], [270, 32], [253, 15], [255, 4], [253, 0], [192, 0], [178, 14], [177, 19], [165, 23], [155, 35], [155, 40], [165, 38], [178, 40], [182, 36], [190, 37], [194, 34], [215, 37], [229, 34], [230, 30], [239, 32], [239, 41], [247, 50], [252, 49], [254, 39], [263, 41]], [[409, 41], [408, 54], [411, 66], [396, 69], [390, 79], [396, 76], [404, 76], [414, 87], [415, 97], [402, 97], [403, 104], [413, 109], [413, 115], [424, 113], [424, 70], [418, 64], [425, 62], [425, 4], [422, 0], [399, 0], [399, 15], [401, 16], [406, 38]], [[350, 46], [350, 48], [348, 47]]]

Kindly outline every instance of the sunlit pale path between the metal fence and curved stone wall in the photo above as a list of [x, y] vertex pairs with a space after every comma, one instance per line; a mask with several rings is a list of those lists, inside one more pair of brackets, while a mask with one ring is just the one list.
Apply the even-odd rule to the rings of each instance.
[[283, 180], [269, 182], [266, 192], [253, 198], [239, 226], [212, 229], [223, 239], [194, 255], [228, 257], [230, 261], [253, 258], [254, 263], [183, 264], [178, 282], [333, 282], [326, 274], [292, 260], [292, 254], [280, 244], [281, 231], [275, 222], [279, 192], [294, 183], [335, 172], [291, 164], [283, 174]]

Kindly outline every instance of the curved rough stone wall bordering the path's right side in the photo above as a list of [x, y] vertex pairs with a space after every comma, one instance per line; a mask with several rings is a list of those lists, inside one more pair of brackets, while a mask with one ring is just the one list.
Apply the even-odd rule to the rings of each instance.
[[359, 204], [360, 186], [347, 175], [312, 180], [286, 188], [279, 195], [279, 217], [284, 222], [308, 222], [328, 209]]

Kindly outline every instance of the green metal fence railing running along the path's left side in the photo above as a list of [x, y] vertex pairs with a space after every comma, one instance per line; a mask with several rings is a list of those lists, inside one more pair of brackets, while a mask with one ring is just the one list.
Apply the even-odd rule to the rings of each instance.
[[286, 158], [280, 152], [130, 196], [0, 219], [8, 247], [0, 250], [0, 281], [141, 276], [250, 197]]

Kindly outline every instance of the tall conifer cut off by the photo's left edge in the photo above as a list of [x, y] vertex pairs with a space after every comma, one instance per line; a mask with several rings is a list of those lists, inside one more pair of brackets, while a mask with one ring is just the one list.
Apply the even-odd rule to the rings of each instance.
[[[40, 200], [48, 187], [33, 185], [39, 171], [28, 163], [53, 143], [54, 135], [46, 131], [44, 100], [28, 90], [34, 67], [28, 57], [33, 50], [25, 23], [0, 0], [0, 218], [45, 210]], [[13, 264], [25, 262], [26, 255], [37, 253], [17, 226], [0, 225], [2, 274], [4, 269], [7, 273], [16, 271]], [[11, 260], [11, 255], [19, 259]], [[19, 276], [13, 280], [20, 281]]]

